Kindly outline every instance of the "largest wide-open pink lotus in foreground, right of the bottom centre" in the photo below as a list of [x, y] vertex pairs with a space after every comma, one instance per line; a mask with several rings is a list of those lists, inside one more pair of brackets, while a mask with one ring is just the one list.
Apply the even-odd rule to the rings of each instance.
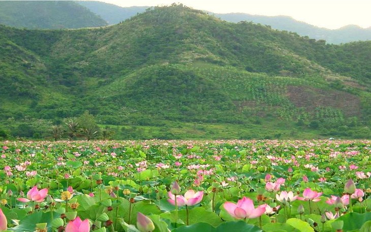
[[245, 219], [245, 218], [257, 218], [265, 213], [267, 204], [254, 208], [254, 202], [252, 199], [243, 197], [237, 201], [237, 204], [232, 202], [225, 202], [223, 207], [226, 211], [234, 218]]

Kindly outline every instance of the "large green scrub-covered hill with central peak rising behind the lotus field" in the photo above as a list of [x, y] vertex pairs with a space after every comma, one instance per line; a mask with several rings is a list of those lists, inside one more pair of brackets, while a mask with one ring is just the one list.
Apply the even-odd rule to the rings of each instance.
[[182, 5], [79, 30], [0, 26], [0, 119], [85, 110], [116, 138], [369, 137], [371, 42], [329, 45]]

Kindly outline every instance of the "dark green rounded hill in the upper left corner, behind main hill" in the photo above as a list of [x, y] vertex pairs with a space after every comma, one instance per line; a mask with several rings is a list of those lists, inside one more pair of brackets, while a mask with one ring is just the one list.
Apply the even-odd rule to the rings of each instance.
[[0, 24], [19, 28], [81, 28], [107, 22], [73, 1], [0, 1]]

